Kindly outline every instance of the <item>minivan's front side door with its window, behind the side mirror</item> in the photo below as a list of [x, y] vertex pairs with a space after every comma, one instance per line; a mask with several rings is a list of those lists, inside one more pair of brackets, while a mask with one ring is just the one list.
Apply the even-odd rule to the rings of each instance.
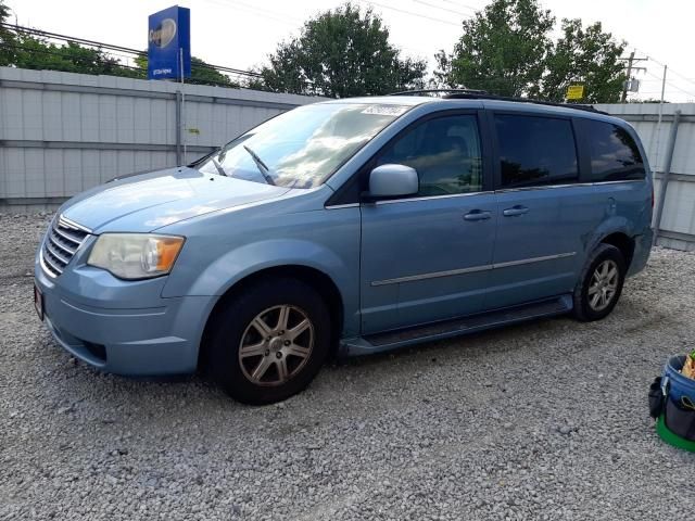
[[479, 128], [476, 112], [429, 116], [371, 162], [415, 168], [419, 192], [362, 205], [363, 333], [484, 308], [497, 217]]

